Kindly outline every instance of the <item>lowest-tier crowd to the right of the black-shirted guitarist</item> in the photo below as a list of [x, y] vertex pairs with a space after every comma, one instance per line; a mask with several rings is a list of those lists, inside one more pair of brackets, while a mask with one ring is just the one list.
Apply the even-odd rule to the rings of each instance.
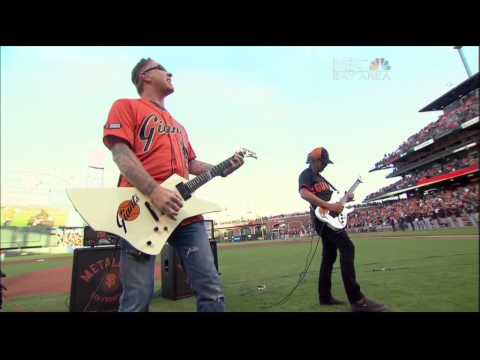
[[478, 226], [479, 184], [437, 191], [423, 197], [358, 205], [348, 216], [347, 228], [366, 232], [378, 228], [423, 230]]

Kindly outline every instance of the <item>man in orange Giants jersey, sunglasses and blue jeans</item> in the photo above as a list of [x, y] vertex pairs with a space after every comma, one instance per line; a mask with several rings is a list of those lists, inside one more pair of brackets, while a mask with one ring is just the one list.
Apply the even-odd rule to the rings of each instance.
[[[212, 165], [196, 160], [185, 128], [165, 109], [174, 92], [172, 74], [152, 59], [141, 59], [132, 70], [140, 99], [117, 100], [110, 109], [103, 142], [121, 172], [119, 186], [135, 187], [164, 214], [175, 219], [183, 205], [175, 191], [159, 185], [172, 174], [188, 179]], [[236, 154], [223, 176], [243, 164]], [[224, 294], [201, 216], [185, 219], [168, 243], [177, 251], [197, 299], [197, 311], [225, 311]], [[120, 312], [148, 311], [154, 290], [155, 256], [121, 242]]]

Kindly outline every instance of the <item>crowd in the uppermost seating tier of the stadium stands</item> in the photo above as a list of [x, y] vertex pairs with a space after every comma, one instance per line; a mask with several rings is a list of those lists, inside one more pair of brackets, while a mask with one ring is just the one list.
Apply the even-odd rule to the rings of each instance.
[[441, 135], [458, 128], [464, 122], [479, 116], [478, 109], [478, 89], [467, 96], [466, 100], [458, 103], [454, 110], [445, 111], [439, 116], [438, 120], [431, 122], [418, 133], [410, 136], [407, 141], [390, 154], [385, 154], [384, 158], [375, 164], [375, 169], [388, 166], [400, 159], [400, 155], [406, 153], [413, 147], [424, 143], [425, 141], [440, 137]]

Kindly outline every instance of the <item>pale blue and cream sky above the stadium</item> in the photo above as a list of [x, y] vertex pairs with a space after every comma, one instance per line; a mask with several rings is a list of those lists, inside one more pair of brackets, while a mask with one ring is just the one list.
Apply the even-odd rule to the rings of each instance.
[[[478, 47], [464, 47], [472, 73]], [[197, 196], [228, 221], [306, 211], [298, 176], [325, 147], [323, 175], [361, 201], [398, 180], [369, 173], [384, 154], [437, 120], [418, 111], [467, 79], [452, 46], [418, 47], [1, 47], [1, 205], [65, 208], [69, 187], [115, 187], [103, 146], [109, 109], [138, 98], [131, 70], [151, 57], [173, 73], [165, 105], [186, 129], [197, 159], [217, 164], [241, 147], [257, 153]], [[375, 59], [389, 69], [365, 74]], [[345, 70], [353, 70], [346, 73]], [[103, 166], [103, 174], [89, 165]]]

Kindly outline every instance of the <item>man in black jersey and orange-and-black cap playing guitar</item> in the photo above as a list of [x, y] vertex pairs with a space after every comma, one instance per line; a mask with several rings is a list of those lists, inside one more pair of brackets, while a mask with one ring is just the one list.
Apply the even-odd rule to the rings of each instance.
[[[318, 296], [320, 305], [341, 305], [344, 302], [332, 296], [332, 270], [337, 259], [337, 250], [340, 252], [340, 268], [343, 285], [348, 302], [354, 312], [379, 312], [385, 306], [378, 304], [363, 295], [355, 275], [355, 246], [345, 230], [336, 231], [319, 221], [315, 216], [315, 208], [321, 206], [329, 211], [341, 212], [341, 203], [329, 203], [332, 196], [330, 184], [320, 175], [330, 161], [328, 151], [317, 147], [307, 155], [309, 167], [299, 176], [298, 189], [302, 199], [310, 203], [310, 215], [318, 236], [322, 239], [323, 251], [318, 279]], [[349, 199], [352, 200], [352, 199]]]

